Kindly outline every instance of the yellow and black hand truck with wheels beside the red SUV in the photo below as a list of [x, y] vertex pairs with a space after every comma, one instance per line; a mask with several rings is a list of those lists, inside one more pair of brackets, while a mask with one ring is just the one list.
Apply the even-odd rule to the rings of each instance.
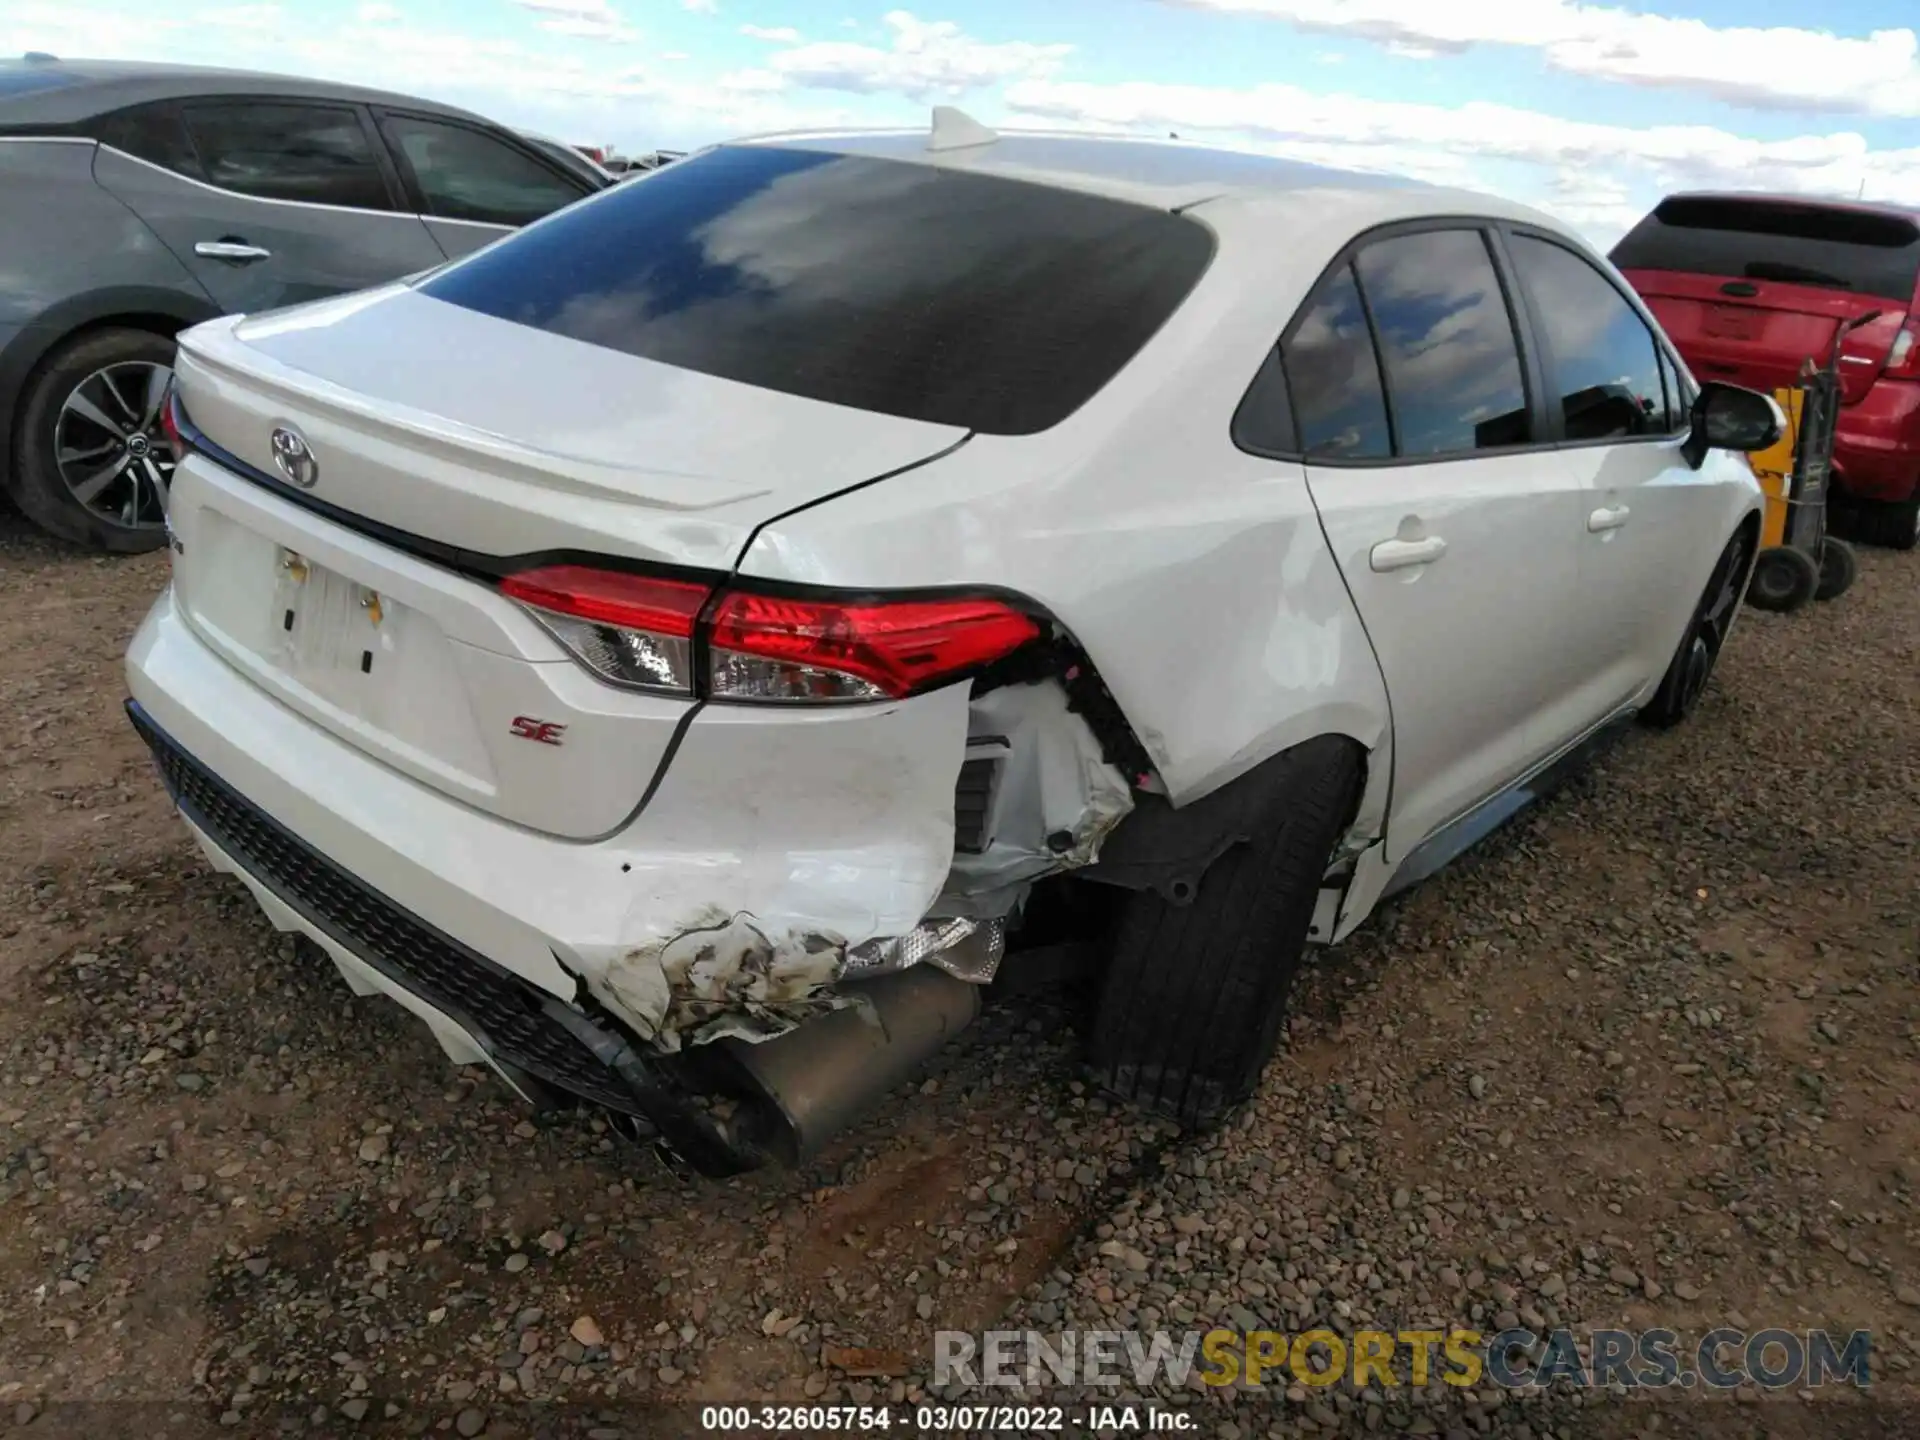
[[1834, 332], [1826, 365], [1801, 361], [1799, 386], [1776, 390], [1774, 399], [1788, 428], [1772, 449], [1747, 457], [1766, 516], [1761, 522], [1761, 555], [1747, 582], [1747, 605], [1789, 614], [1811, 599], [1839, 599], [1853, 588], [1859, 561], [1853, 545], [1826, 532], [1826, 495], [1834, 478], [1834, 428], [1839, 424], [1839, 346], [1862, 324], [1880, 319], [1868, 311]]

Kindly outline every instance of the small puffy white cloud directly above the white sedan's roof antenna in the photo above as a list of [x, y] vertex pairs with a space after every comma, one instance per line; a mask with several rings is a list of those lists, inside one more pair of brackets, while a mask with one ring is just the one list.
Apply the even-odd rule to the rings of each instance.
[[781, 50], [768, 63], [793, 84], [925, 100], [1052, 75], [1073, 50], [1066, 44], [975, 40], [952, 21], [924, 21], [904, 10], [889, 12], [885, 23], [893, 33], [885, 50], [852, 40], [816, 40]]

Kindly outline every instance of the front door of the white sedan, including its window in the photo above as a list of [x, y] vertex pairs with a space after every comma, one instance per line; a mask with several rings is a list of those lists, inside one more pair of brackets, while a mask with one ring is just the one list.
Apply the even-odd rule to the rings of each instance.
[[1567, 643], [1592, 708], [1628, 703], [1680, 643], [1726, 545], [1724, 484], [1680, 455], [1692, 392], [1624, 288], [1546, 232], [1505, 234], [1540, 342], [1549, 434], [1586, 493]]

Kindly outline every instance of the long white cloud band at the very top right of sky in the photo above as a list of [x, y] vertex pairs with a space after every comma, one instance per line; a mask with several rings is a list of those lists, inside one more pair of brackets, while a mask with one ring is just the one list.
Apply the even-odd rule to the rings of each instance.
[[[1538, 50], [1557, 71], [1626, 84], [1699, 90], [1745, 106], [1920, 115], [1920, 38], [1910, 29], [1716, 27], [1580, 0], [1167, 0], [1190, 10], [1267, 15], [1319, 35], [1352, 35], [1396, 54], [1459, 54], [1476, 44]], [[1891, 13], [1891, 12], [1889, 12]]]

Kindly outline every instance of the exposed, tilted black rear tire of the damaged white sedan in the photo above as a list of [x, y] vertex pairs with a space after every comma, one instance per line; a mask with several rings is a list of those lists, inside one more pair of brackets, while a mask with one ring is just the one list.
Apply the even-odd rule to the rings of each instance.
[[1275, 824], [1219, 856], [1190, 904], [1127, 897], [1100, 983], [1091, 1062], [1112, 1094], [1194, 1129], [1254, 1092], [1281, 1037], [1321, 881], [1359, 801], [1357, 747], [1281, 760]]

